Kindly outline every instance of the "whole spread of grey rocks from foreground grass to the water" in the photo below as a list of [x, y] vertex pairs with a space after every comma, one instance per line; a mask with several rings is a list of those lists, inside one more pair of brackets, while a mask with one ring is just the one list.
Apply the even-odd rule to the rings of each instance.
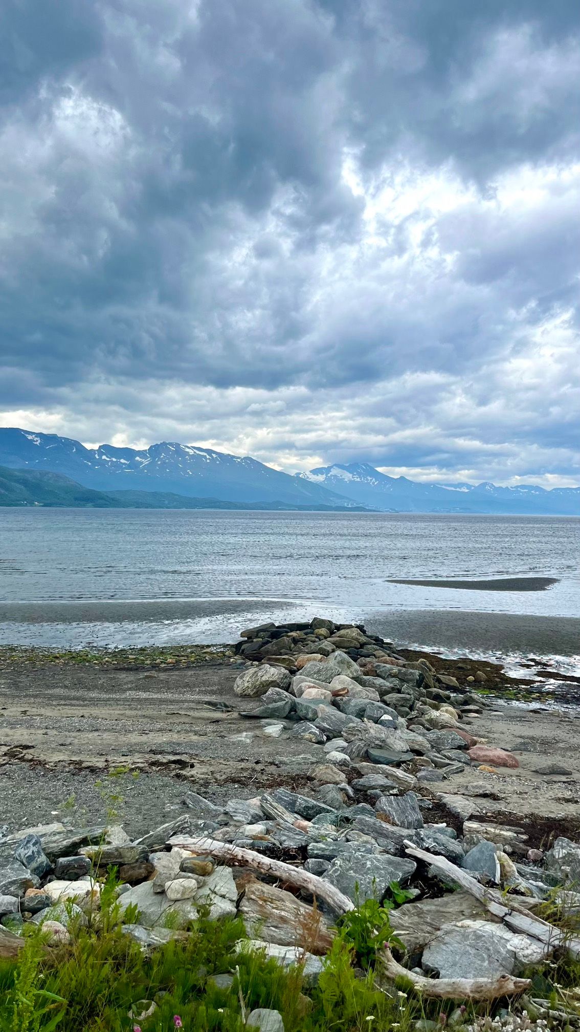
[[[560, 914], [580, 911], [580, 845], [560, 836], [546, 851], [530, 848], [524, 829], [473, 819], [469, 801], [439, 791], [468, 764], [517, 766], [461, 728], [485, 705], [473, 682], [438, 677], [364, 628], [322, 619], [246, 631], [236, 650], [248, 666], [234, 690], [258, 700], [248, 713], [280, 738], [281, 755], [289, 736], [320, 745], [310, 795], [277, 788], [217, 806], [190, 792], [187, 815], [136, 841], [119, 827], [62, 824], [5, 835], [0, 954], [18, 952], [28, 922], [66, 942], [115, 865], [124, 933], [143, 948], [185, 934], [201, 908], [214, 920], [238, 913], [240, 950], [300, 963], [311, 981], [336, 917], [392, 898], [395, 882], [407, 890], [390, 913], [405, 969], [386, 949], [385, 975], [404, 970], [426, 995], [533, 999], [524, 968], [561, 950], [580, 957], [575, 933], [538, 914], [547, 900]], [[578, 1024], [534, 999], [537, 1017]]]

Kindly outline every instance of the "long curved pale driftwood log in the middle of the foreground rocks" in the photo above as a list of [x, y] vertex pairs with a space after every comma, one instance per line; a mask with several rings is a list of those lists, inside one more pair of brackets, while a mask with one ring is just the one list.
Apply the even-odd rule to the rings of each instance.
[[323, 881], [316, 874], [309, 874], [301, 867], [284, 864], [281, 860], [269, 860], [253, 849], [243, 849], [229, 845], [227, 842], [217, 842], [211, 838], [189, 838], [186, 835], [174, 835], [173, 838], [169, 839], [169, 845], [191, 849], [192, 852], [207, 853], [230, 867], [252, 867], [254, 870], [260, 871], [261, 874], [281, 878], [283, 881], [296, 885], [297, 889], [303, 889], [311, 896], [318, 896], [319, 899], [328, 904], [334, 913], [343, 914], [347, 910], [354, 910], [354, 903], [348, 896], [344, 896], [328, 881]]

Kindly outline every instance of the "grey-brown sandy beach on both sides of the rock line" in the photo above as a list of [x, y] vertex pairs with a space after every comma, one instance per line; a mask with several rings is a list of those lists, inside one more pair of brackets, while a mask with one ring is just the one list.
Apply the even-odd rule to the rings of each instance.
[[[143, 672], [91, 666], [0, 673], [0, 826], [103, 819], [116, 810], [133, 834], [187, 812], [194, 789], [213, 800], [284, 784], [303, 788], [320, 746], [271, 739], [240, 711], [237, 670], [205, 664]], [[509, 749], [517, 770], [466, 768], [430, 792], [466, 795], [482, 815], [527, 825], [538, 815], [580, 828], [580, 714], [501, 706], [463, 724]], [[542, 773], [559, 764], [570, 774]], [[540, 773], [539, 773], [540, 772]]]

